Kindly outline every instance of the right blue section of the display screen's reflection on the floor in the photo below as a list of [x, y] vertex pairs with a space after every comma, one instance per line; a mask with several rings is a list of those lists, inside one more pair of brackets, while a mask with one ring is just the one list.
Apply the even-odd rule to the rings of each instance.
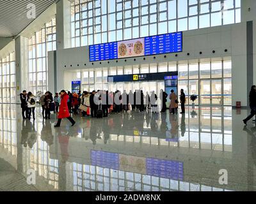
[[164, 159], [147, 158], [147, 175], [173, 180], [184, 180], [183, 163]]

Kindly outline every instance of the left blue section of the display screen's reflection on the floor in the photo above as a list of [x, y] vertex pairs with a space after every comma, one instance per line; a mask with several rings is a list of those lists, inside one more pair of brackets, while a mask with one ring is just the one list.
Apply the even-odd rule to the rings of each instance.
[[119, 156], [117, 153], [91, 150], [91, 163], [93, 166], [119, 170]]

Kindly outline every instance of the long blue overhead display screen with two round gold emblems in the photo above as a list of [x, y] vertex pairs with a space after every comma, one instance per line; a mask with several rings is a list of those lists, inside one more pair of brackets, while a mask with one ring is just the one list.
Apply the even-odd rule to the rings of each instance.
[[182, 32], [90, 45], [90, 62], [182, 52]]

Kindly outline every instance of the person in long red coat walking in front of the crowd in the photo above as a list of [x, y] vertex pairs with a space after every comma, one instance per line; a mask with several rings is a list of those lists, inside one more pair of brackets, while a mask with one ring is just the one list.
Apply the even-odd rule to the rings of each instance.
[[62, 90], [60, 92], [60, 94], [61, 94], [60, 111], [58, 113], [58, 122], [54, 126], [54, 128], [60, 127], [61, 119], [65, 119], [65, 118], [67, 118], [72, 123], [72, 126], [74, 126], [74, 124], [76, 124], [76, 122], [75, 122], [75, 120], [72, 119], [72, 117], [70, 117], [70, 114], [68, 111], [69, 96], [64, 90]]

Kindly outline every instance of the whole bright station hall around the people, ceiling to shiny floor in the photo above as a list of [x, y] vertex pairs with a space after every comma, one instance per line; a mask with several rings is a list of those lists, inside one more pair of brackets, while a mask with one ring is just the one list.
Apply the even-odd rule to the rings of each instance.
[[[0, 191], [256, 190], [256, 117], [243, 122], [255, 0], [10, 0], [0, 11]], [[79, 110], [68, 98], [76, 124], [55, 127], [62, 91], [144, 99], [119, 98], [99, 118], [83, 95]], [[60, 105], [49, 119], [47, 92]]]

